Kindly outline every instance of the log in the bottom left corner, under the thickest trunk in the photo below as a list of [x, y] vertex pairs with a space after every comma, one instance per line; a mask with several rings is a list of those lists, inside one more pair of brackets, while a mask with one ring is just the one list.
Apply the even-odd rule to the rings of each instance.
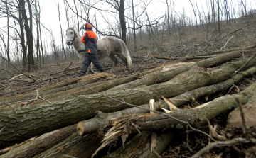
[[75, 132], [75, 128], [76, 125], [70, 125], [68, 127], [43, 134], [40, 137], [37, 137], [30, 142], [27, 142], [25, 145], [21, 145], [21, 147], [12, 149], [10, 152], [1, 155], [0, 158], [34, 157], [37, 154], [40, 154], [47, 149], [50, 149], [50, 147], [53, 147], [60, 142], [63, 142], [63, 140], [65, 140]]

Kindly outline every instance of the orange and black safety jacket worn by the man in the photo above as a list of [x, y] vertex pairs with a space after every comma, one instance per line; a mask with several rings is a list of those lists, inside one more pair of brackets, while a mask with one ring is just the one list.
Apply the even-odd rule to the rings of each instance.
[[87, 30], [82, 36], [82, 43], [85, 43], [85, 52], [97, 54], [97, 35], [92, 30]]

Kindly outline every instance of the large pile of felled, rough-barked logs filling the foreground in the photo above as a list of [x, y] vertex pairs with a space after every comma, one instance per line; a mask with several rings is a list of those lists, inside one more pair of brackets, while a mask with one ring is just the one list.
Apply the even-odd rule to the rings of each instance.
[[[207, 55], [216, 53], [220, 52]], [[36, 138], [14, 146], [0, 158], [161, 157], [176, 131], [186, 128], [216, 142], [213, 133], [198, 128], [235, 109], [238, 101], [245, 105], [256, 94], [255, 82], [238, 94], [207, 101], [208, 96], [228, 91], [256, 73], [256, 58], [230, 62], [241, 55], [236, 49], [175, 69], [156, 67], [120, 79], [113, 74], [90, 74], [4, 98], [0, 102], [0, 149]], [[211, 69], [216, 65], [221, 66]], [[233, 75], [240, 67], [242, 72]], [[97, 77], [109, 80], [94, 82]], [[200, 98], [205, 98], [202, 105]], [[150, 110], [151, 99], [156, 101], [155, 110]], [[186, 103], [194, 107], [181, 108]], [[117, 147], [108, 152], [108, 145]]]

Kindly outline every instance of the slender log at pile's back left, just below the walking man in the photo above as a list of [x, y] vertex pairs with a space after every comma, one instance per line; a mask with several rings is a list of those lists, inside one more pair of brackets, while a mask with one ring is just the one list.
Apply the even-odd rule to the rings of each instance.
[[[79, 78], [75, 78], [75, 79], [69, 79], [68, 81], [63, 81], [60, 82], [59, 84], [55, 84], [53, 86], [48, 86], [46, 88], [43, 89], [38, 89], [38, 94], [40, 96], [43, 96], [43, 98], [46, 99], [50, 99], [50, 98], [55, 98], [55, 96], [60, 96], [63, 94], [60, 94], [61, 92], [64, 94], [74, 94], [74, 93], [80, 93], [78, 91], [81, 91], [82, 93], [82, 89], [86, 89], [86, 87], [84, 86], [84, 84], [92, 84], [95, 83], [95, 78], [100, 78], [100, 77], [114, 77], [114, 74], [105, 74], [105, 73], [97, 73], [97, 74], [90, 74], [90, 75], [86, 75], [84, 77], [79, 77]], [[114, 79], [114, 81], [104, 81], [104, 82], [97, 82], [95, 84], [99, 84], [97, 87], [98, 91], [104, 91], [104, 89], [110, 89], [112, 86], [116, 86], [118, 84], [124, 84], [127, 83], [129, 81], [134, 81], [135, 79], [137, 79], [137, 77], [139, 77], [139, 74], [134, 74], [132, 77], [124, 77], [122, 79]], [[95, 85], [94, 85], [95, 86]], [[88, 94], [92, 94], [93, 91], [88, 91], [88, 90], [84, 90], [83, 92], [88, 93]], [[10, 103], [16, 103], [18, 101], [25, 101], [28, 99], [34, 99], [36, 98], [36, 94], [37, 91], [32, 91], [28, 94], [22, 94], [20, 96], [15, 96], [15, 97], [11, 97], [8, 98], [6, 100], [4, 100], [4, 102], [0, 103], [0, 106], [4, 106], [6, 103], [10, 104]], [[18, 106], [20, 106], [21, 103], [18, 104]], [[12, 104], [12, 106], [14, 106], [14, 104]]]

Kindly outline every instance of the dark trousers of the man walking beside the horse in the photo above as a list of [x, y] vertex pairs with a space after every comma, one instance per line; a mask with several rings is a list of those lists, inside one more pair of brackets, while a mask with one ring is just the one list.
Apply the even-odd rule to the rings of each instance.
[[82, 68], [81, 68], [81, 70], [79, 72], [79, 76], [85, 75], [85, 73], [87, 72], [87, 69], [90, 66], [91, 62], [92, 62], [92, 64], [95, 65], [95, 67], [97, 69], [100, 70], [100, 72], [106, 72], [106, 70], [104, 69], [104, 67], [100, 63], [100, 61], [99, 61], [99, 59], [97, 57], [97, 54], [86, 53], [85, 54], [85, 59], [82, 62]]

